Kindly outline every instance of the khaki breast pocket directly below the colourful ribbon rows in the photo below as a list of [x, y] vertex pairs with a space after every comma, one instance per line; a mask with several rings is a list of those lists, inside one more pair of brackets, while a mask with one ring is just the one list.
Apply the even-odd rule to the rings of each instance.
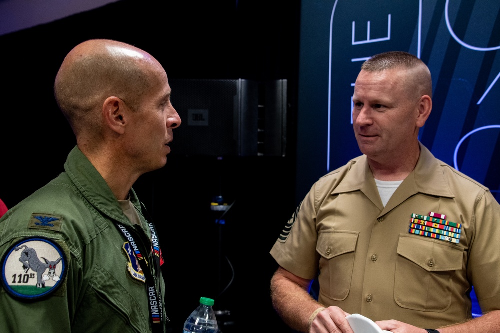
[[451, 305], [452, 277], [463, 249], [444, 241], [399, 236], [394, 300], [403, 308], [442, 312]]

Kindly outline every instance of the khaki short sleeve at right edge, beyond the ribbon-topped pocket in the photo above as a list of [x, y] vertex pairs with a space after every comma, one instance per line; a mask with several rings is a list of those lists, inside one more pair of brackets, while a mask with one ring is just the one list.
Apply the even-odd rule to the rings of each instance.
[[481, 310], [500, 309], [500, 205], [489, 191], [476, 205], [467, 271]]

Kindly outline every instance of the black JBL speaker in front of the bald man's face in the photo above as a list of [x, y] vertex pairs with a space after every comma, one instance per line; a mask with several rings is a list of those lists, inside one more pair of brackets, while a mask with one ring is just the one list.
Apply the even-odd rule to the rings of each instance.
[[284, 156], [286, 80], [170, 79], [182, 124], [172, 154]]

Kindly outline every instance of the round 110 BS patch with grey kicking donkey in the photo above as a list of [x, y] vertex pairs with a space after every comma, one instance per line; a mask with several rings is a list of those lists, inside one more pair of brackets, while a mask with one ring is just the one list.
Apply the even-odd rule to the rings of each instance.
[[66, 270], [66, 257], [57, 243], [28, 237], [12, 245], [1, 259], [1, 283], [14, 297], [36, 299], [53, 293]]

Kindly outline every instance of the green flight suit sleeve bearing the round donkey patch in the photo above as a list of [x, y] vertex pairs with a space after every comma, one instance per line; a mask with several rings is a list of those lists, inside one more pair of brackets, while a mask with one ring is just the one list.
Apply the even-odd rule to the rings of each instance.
[[0, 255], [0, 332], [70, 332], [81, 269], [65, 244], [16, 237], [2, 242]]

